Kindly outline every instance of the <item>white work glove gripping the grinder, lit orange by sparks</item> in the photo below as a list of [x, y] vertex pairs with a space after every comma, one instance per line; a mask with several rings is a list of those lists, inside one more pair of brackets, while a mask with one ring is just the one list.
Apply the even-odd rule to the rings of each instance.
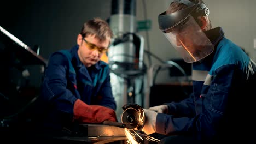
[[155, 133], [156, 115], [158, 115], [158, 113], [156, 113], [155, 111], [147, 110], [147, 109], [143, 109], [143, 110], [145, 112], [146, 122], [142, 128], [142, 131], [144, 131], [144, 133], [146, 133], [147, 135]]

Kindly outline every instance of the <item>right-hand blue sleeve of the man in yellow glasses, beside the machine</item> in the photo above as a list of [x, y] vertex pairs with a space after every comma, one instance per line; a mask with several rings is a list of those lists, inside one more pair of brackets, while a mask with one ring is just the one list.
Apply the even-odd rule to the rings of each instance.
[[113, 93], [112, 93], [112, 86], [110, 83], [110, 70], [107, 66], [106, 70], [106, 79], [102, 83], [101, 89], [98, 93], [101, 96], [100, 105], [109, 107], [110, 109], [116, 110], [117, 105], [115, 103]]

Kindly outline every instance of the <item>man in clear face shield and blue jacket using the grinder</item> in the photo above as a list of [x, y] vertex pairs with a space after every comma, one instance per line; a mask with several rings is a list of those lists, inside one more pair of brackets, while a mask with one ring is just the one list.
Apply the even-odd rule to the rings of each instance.
[[221, 27], [212, 28], [208, 14], [201, 0], [174, 0], [158, 17], [168, 41], [193, 65], [189, 98], [144, 109], [142, 131], [166, 136], [159, 143], [255, 143], [249, 131], [256, 125], [256, 64]]

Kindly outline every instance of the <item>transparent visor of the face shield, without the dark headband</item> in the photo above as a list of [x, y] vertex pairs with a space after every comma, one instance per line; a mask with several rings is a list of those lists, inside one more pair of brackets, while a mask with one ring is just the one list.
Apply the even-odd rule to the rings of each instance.
[[200, 61], [213, 52], [211, 41], [191, 15], [177, 26], [164, 31], [164, 35], [185, 62]]

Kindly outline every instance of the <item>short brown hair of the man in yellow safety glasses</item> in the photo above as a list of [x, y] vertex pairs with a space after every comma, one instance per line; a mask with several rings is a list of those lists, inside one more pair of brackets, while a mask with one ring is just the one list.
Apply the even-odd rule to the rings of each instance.
[[112, 29], [109, 27], [108, 23], [99, 18], [95, 17], [84, 23], [80, 34], [82, 37], [87, 37], [88, 35], [95, 35], [99, 41], [104, 41], [106, 39], [113, 38]]

